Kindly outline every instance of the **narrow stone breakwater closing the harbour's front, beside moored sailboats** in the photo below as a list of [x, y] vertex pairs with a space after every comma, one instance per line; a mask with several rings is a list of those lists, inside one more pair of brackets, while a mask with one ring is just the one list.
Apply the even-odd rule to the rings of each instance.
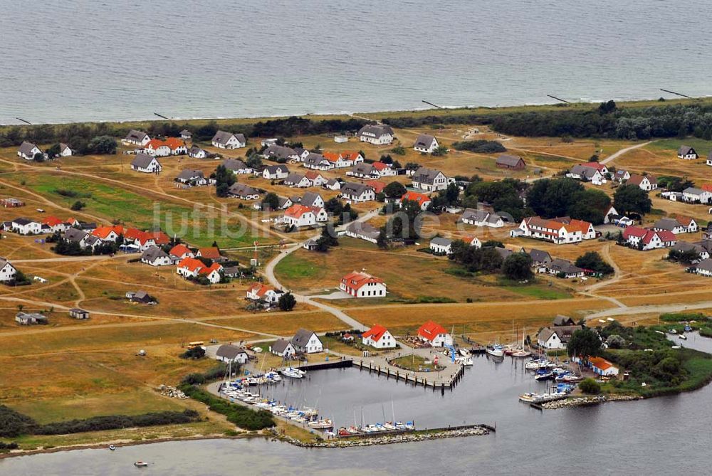
[[441, 438], [461, 438], [464, 436], [482, 436], [488, 435], [490, 430], [481, 426], [472, 428], [462, 428], [456, 430], [431, 430], [431, 431], [414, 431], [408, 433], [393, 433], [392, 435], [381, 435], [373, 438], [364, 436], [362, 438], [333, 438], [331, 440], [320, 441], [317, 443], [305, 443], [287, 435], [273, 432], [276, 438], [291, 443], [302, 448], [351, 448], [354, 446], [372, 446], [372, 445], [392, 445], [394, 443], [411, 443], [414, 441], [439, 440]]

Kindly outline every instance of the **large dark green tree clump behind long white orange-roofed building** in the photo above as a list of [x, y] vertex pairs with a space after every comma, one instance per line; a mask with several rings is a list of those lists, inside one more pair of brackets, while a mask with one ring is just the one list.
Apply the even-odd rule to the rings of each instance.
[[586, 189], [574, 179], [541, 179], [530, 187], [527, 204], [536, 215], [570, 216], [600, 225], [611, 199], [600, 190]]

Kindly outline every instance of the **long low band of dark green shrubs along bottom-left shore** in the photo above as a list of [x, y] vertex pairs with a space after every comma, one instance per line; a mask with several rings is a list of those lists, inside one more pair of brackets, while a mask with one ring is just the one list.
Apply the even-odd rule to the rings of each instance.
[[61, 421], [41, 425], [32, 418], [0, 405], [0, 436], [15, 438], [19, 435], [64, 435], [87, 431], [116, 430], [135, 426], [175, 425], [199, 421], [197, 411], [162, 411], [142, 415], [95, 416], [84, 420]]

